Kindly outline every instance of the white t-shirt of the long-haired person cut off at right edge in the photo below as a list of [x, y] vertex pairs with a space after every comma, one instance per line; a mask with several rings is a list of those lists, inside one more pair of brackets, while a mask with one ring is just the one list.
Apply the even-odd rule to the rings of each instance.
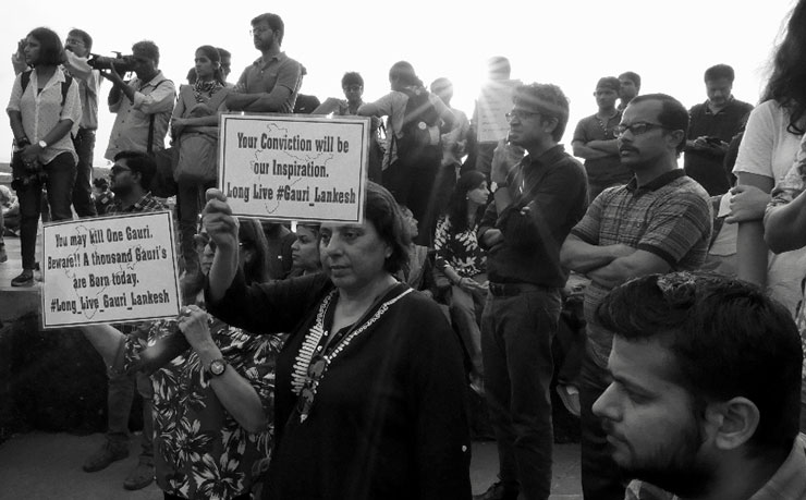
[[[789, 113], [774, 100], [757, 106], [747, 120], [733, 173], [755, 173], [778, 183], [789, 172], [801, 145], [801, 136], [786, 131]], [[806, 248], [770, 255], [767, 259], [767, 291], [792, 314], [803, 297], [801, 281], [806, 272]]]

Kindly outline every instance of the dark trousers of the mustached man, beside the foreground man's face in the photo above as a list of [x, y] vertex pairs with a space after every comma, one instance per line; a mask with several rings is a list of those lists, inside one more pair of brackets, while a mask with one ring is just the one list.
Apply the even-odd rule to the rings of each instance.
[[596, 364], [590, 347], [579, 375], [579, 405], [582, 406], [582, 491], [586, 499], [622, 500], [626, 483], [610, 454], [607, 434], [593, 406], [610, 385], [610, 374]]

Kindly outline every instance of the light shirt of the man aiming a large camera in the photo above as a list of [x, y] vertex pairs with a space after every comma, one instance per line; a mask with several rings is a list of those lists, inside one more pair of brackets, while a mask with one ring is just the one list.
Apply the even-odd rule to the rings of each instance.
[[173, 82], [166, 78], [162, 72], [158, 72], [150, 82], [132, 78], [129, 86], [134, 88], [134, 102], [121, 93], [120, 99], [109, 105], [109, 111], [115, 113], [115, 118], [103, 157], [110, 161], [120, 151], [148, 151], [151, 117], [154, 117], [151, 150], [159, 151], [166, 147], [168, 122], [176, 100]]

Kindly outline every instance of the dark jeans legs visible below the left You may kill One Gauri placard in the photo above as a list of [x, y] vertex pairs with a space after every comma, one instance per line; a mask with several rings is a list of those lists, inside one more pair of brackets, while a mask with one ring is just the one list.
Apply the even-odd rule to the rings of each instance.
[[109, 389], [107, 392], [107, 439], [109, 442], [126, 447], [129, 444], [129, 414], [132, 412], [134, 389], [143, 397], [143, 451], [141, 462], [154, 465], [154, 386], [151, 379], [142, 373], [121, 374], [107, 371]]

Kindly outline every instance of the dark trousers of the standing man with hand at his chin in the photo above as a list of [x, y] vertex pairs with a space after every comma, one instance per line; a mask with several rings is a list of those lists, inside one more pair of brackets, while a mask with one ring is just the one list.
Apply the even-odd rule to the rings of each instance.
[[487, 296], [481, 315], [485, 390], [501, 481], [527, 500], [547, 499], [554, 441], [551, 341], [561, 298], [559, 289], [521, 286], [527, 289], [512, 296]]

